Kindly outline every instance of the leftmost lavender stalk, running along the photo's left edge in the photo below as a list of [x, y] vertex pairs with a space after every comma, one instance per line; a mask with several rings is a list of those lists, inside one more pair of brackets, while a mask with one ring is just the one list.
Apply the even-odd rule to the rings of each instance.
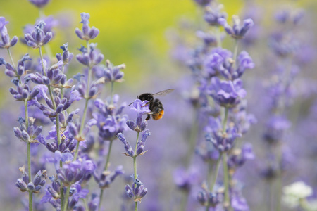
[[[37, 94], [39, 94], [39, 89], [35, 87], [32, 91], [30, 90], [29, 85], [27, 84], [30, 79], [25, 77], [25, 63], [27, 60], [31, 60], [28, 54], [25, 54], [21, 60], [18, 61], [18, 67], [15, 68], [13, 58], [11, 56], [11, 52], [9, 48], [11, 46], [14, 46], [16, 42], [18, 41], [18, 38], [15, 36], [13, 39], [9, 38], [7, 29], [6, 29], [6, 24], [8, 22], [5, 21], [4, 17], [0, 17], [0, 32], [1, 32], [1, 43], [0, 46], [1, 48], [6, 48], [8, 49], [8, 55], [11, 58], [11, 63], [6, 63], [4, 58], [0, 58], [0, 65], [6, 65], [6, 75], [8, 77], [13, 77], [11, 82], [15, 84], [17, 89], [10, 89], [11, 94], [13, 97], [18, 100], [18, 101], [23, 101], [24, 102], [24, 110], [25, 110], [25, 119], [19, 118], [18, 122], [20, 123], [20, 128], [15, 127], [14, 133], [15, 136], [17, 136], [21, 141], [25, 141], [27, 143], [27, 170], [28, 174], [24, 172], [24, 167], [23, 170], [23, 175], [27, 175], [24, 178], [24, 181], [26, 182], [28, 180], [28, 185], [26, 189], [21, 188], [23, 185], [23, 182], [20, 181], [19, 179], [17, 181], [17, 186], [20, 188], [21, 191], [27, 191], [29, 192], [29, 210], [33, 209], [33, 193], [39, 193], [39, 190], [41, 186], [37, 186], [40, 181], [38, 181], [38, 178], [35, 178], [35, 182], [32, 184], [32, 174], [31, 174], [31, 143], [37, 143], [38, 142], [38, 136], [42, 132], [42, 127], [35, 127], [34, 122], [35, 119], [28, 116], [28, 102], [32, 101], [33, 98], [36, 98]], [[45, 184], [45, 183], [44, 183]], [[42, 183], [42, 186], [44, 185]], [[37, 186], [37, 187], [35, 187]]]

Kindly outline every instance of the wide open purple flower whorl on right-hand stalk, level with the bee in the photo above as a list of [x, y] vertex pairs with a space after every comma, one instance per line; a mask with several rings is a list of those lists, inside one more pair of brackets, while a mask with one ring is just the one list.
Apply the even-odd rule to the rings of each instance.
[[209, 95], [213, 97], [220, 106], [232, 108], [240, 103], [247, 92], [242, 88], [242, 80], [220, 81], [218, 77], [211, 78], [211, 84], [208, 87]]

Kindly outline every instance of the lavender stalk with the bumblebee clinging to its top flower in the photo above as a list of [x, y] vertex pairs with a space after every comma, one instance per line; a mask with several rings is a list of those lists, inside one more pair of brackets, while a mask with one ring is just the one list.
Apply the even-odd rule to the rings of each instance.
[[[122, 133], [119, 133], [118, 139], [124, 144], [125, 146], [125, 155], [133, 158], [133, 179], [134, 183], [132, 188], [127, 185], [125, 186], [125, 191], [129, 198], [133, 198], [135, 200], [135, 211], [138, 209], [138, 202], [142, 200], [142, 198], [147, 194], [147, 188], [144, 188], [144, 184], [139, 181], [137, 175], [137, 156], [143, 155], [147, 151], [144, 149], [145, 141], [147, 137], [150, 135], [149, 129], [147, 128], [147, 121], [142, 121], [142, 115], [150, 113], [149, 110], [149, 101], [141, 101], [139, 99], [133, 102], [133, 107], [131, 110], [135, 110], [137, 113], [137, 120], [134, 122], [133, 120], [128, 120], [127, 125], [130, 129], [137, 132], [137, 141], [135, 141], [135, 150], [133, 151], [132, 146], [130, 143], [125, 139], [125, 136]], [[142, 133], [142, 140], [139, 141], [139, 133]]]

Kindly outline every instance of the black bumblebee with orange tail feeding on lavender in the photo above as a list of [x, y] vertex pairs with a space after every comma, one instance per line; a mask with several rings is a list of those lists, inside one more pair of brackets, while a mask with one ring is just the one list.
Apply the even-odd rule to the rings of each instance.
[[154, 98], [154, 97], [166, 96], [166, 94], [169, 94], [172, 91], [174, 91], [174, 89], [166, 89], [163, 91], [156, 92], [154, 94], [144, 93], [137, 96], [137, 98], [140, 99], [141, 101], [149, 101], [147, 105], [149, 104], [149, 109], [151, 110], [151, 113], [147, 114], [147, 118], [145, 119], [146, 121], [151, 118], [151, 115], [153, 120], [160, 120], [163, 117], [164, 115], [163, 104], [158, 98]]

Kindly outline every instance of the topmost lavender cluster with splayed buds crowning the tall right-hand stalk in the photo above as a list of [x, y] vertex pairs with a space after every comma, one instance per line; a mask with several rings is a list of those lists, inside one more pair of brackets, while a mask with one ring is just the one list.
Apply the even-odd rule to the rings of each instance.
[[223, 20], [225, 31], [235, 39], [242, 39], [249, 29], [254, 25], [251, 18], [243, 20], [243, 25], [240, 25], [240, 18], [237, 15], [232, 15], [233, 26], [228, 25], [227, 21]]

